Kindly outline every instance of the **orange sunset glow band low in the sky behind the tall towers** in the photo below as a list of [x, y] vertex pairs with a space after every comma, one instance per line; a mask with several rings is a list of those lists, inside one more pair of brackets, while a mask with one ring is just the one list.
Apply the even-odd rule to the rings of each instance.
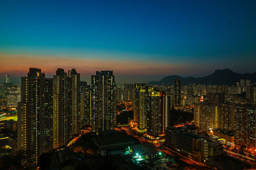
[[[114, 59], [84, 59], [68, 58], [60, 56], [31, 56], [14, 55], [9, 53], [0, 53], [1, 67], [0, 73], [15, 73], [24, 75], [28, 73], [29, 67], [42, 69], [42, 73], [54, 74], [57, 68], [67, 69], [75, 68], [82, 74], [94, 74], [98, 70], [113, 70], [115, 74], [131, 75], [158, 75], [168, 74], [170, 71], [177, 70], [178, 64], [165, 64], [152, 62], [148, 60], [132, 62]], [[181, 66], [182, 67], [182, 66]]]

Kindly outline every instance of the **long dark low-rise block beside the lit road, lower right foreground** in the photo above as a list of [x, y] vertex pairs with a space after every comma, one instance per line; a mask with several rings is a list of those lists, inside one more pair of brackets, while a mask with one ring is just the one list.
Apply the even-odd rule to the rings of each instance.
[[198, 135], [195, 125], [168, 127], [164, 145], [196, 161], [207, 160], [222, 153], [222, 145], [217, 139]]

